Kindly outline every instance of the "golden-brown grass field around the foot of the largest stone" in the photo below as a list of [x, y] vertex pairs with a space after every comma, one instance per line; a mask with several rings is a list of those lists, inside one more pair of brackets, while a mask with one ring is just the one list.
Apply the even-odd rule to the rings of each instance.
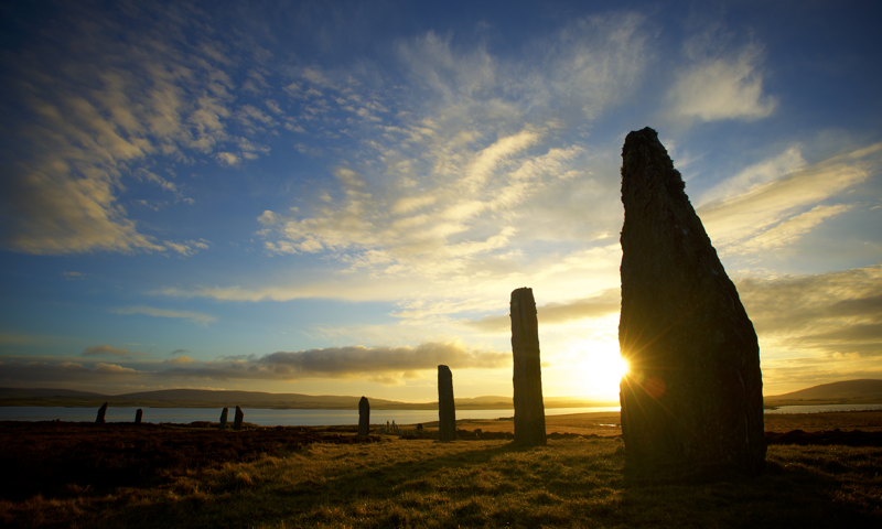
[[[624, 471], [619, 432], [606, 425], [617, 413], [548, 419], [549, 432], [604, 436], [535, 449], [385, 435], [369, 444], [314, 443], [170, 472], [141, 486], [69, 483], [53, 497], [0, 501], [0, 520], [18, 527], [882, 527], [880, 446], [772, 445], [767, 472], [757, 478], [648, 478]], [[882, 431], [882, 413], [767, 421], [767, 430], [777, 427]]]

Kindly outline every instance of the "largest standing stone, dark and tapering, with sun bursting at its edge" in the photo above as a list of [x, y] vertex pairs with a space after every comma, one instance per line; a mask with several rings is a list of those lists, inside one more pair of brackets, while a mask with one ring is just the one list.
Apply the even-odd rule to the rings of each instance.
[[753, 324], [658, 134], [631, 132], [622, 158], [627, 464], [760, 472], [766, 446]]

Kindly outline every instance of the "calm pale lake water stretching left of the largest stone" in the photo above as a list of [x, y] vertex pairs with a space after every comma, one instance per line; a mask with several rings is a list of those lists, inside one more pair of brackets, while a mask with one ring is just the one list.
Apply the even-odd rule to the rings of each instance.
[[[220, 408], [141, 408], [143, 422], [179, 422], [220, 420]], [[133, 422], [137, 408], [108, 408], [107, 422]], [[321, 427], [358, 424], [356, 410], [268, 410], [261, 408], [244, 408], [245, 422], [261, 427]], [[588, 413], [592, 411], [619, 411], [617, 406], [598, 408], [550, 408], [546, 415], [566, 413]], [[0, 407], [0, 421], [94, 421], [97, 408], [62, 408], [62, 407]], [[460, 410], [456, 419], [498, 419], [513, 417], [515, 410]], [[229, 410], [233, 422], [235, 408]], [[398, 424], [416, 424], [438, 420], [438, 410], [372, 410], [372, 424], [395, 421]]]

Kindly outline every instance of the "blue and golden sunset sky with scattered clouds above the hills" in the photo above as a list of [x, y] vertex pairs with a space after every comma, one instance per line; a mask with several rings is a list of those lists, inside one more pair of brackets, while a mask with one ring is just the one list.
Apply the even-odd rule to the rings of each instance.
[[0, 386], [617, 399], [652, 127], [764, 393], [882, 378], [882, 4], [0, 6]]

